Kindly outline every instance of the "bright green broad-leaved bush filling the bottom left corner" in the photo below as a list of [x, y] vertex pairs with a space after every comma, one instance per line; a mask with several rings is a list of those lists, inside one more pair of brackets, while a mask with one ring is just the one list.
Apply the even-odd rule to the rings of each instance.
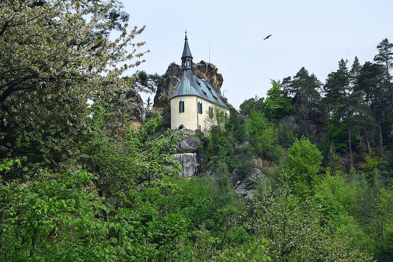
[[[93, 189], [88, 189], [93, 177], [86, 172], [56, 176], [42, 173], [25, 185], [1, 186], [2, 261], [26, 256], [38, 261], [98, 261], [113, 255], [111, 240], [105, 237], [111, 225], [95, 216], [95, 210], [104, 208], [102, 199], [86, 191]], [[101, 245], [110, 249], [101, 250]]]

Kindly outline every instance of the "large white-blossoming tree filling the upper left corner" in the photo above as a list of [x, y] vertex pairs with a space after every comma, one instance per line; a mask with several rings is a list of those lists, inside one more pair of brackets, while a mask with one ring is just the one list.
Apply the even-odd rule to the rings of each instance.
[[[134, 42], [144, 27], [128, 31], [120, 8], [118, 1], [2, 1], [2, 158], [53, 168], [75, 163], [76, 145], [85, 141], [87, 101], [130, 90], [120, 75], [148, 52], [138, 52], [144, 42]], [[117, 38], [109, 38], [112, 30], [120, 30]]]

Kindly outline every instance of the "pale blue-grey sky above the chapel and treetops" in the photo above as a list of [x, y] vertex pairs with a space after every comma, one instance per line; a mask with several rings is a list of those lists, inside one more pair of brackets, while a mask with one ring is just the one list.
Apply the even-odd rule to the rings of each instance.
[[[321, 81], [338, 60], [372, 61], [377, 44], [393, 42], [393, 0], [123, 0], [130, 26], [150, 53], [137, 69], [164, 74], [180, 64], [187, 28], [194, 62], [209, 61], [224, 77], [221, 90], [236, 108], [265, 97], [270, 79], [294, 76], [304, 66]], [[262, 41], [265, 36], [272, 36]], [[131, 74], [133, 71], [129, 71]], [[154, 95], [151, 95], [153, 99]], [[144, 100], [147, 96], [143, 96]]]

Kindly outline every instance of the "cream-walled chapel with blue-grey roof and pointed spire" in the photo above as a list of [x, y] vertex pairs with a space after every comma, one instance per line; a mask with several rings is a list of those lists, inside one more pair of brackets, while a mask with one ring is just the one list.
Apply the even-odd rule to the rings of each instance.
[[172, 129], [208, 131], [216, 112], [229, 115], [229, 109], [213, 85], [194, 76], [187, 32], [184, 40], [181, 79], [170, 98], [170, 126]]

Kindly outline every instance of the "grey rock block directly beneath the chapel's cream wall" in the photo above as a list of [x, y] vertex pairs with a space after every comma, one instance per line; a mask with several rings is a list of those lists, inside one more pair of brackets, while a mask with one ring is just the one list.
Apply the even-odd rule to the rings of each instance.
[[201, 143], [199, 139], [185, 134], [183, 140], [176, 146], [176, 154], [172, 156], [182, 165], [184, 177], [192, 178], [199, 172], [198, 147]]

